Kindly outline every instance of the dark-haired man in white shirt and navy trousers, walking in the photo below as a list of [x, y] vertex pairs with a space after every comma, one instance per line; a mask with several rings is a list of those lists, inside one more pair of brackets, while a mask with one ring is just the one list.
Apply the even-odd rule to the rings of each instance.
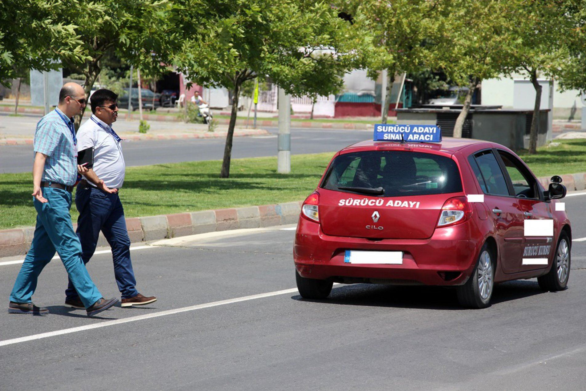
[[[93, 113], [77, 131], [77, 150], [94, 148], [94, 161], [77, 185], [75, 203], [79, 211], [76, 234], [81, 241], [84, 264], [96, 251], [100, 231], [112, 248], [114, 276], [122, 294], [122, 307], [145, 305], [156, 301], [155, 296], [138, 293], [130, 259], [130, 238], [124, 218], [124, 208], [118, 190], [124, 183], [125, 164], [120, 137], [112, 129], [118, 117], [118, 95], [100, 89], [91, 95]], [[83, 309], [75, 288], [69, 282], [65, 305]]]

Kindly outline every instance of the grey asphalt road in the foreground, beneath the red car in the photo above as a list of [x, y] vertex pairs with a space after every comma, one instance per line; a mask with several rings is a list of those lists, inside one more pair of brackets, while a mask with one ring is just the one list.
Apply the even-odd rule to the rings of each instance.
[[[574, 239], [586, 237], [584, 201], [565, 199]], [[574, 242], [567, 290], [506, 282], [471, 310], [434, 287], [337, 285], [301, 299], [295, 231], [283, 228], [134, 250], [137, 287], [159, 300], [93, 319], [64, 308], [66, 273], [51, 262], [34, 297], [50, 315], [0, 312], [0, 389], [584, 389], [586, 241]], [[106, 297], [118, 294], [110, 259], [88, 264]], [[20, 268], [7, 260], [6, 304]]]

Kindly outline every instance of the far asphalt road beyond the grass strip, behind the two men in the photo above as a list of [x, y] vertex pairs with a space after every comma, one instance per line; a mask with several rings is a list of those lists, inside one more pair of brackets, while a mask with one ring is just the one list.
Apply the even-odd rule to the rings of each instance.
[[[277, 128], [265, 128], [270, 136], [234, 137], [232, 157], [277, 156]], [[291, 129], [291, 153], [335, 152], [372, 137], [370, 130]], [[226, 140], [142, 140], [122, 144], [127, 166], [221, 160]], [[32, 146], [0, 146], [0, 173], [32, 171]]]

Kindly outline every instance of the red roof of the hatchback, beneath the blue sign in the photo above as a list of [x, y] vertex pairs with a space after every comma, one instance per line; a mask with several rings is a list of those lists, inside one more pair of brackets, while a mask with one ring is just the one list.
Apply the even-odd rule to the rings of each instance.
[[464, 149], [469, 146], [477, 146], [478, 148], [495, 147], [495, 143], [491, 143], [486, 140], [475, 140], [475, 139], [456, 139], [454, 137], [442, 137], [441, 143], [400, 143], [398, 141], [360, 141], [359, 143], [352, 144], [340, 150], [340, 153], [347, 153], [350, 151], [367, 151], [367, 150], [388, 150], [397, 148], [409, 147], [414, 151], [438, 151], [446, 154], [454, 154], [456, 151]]

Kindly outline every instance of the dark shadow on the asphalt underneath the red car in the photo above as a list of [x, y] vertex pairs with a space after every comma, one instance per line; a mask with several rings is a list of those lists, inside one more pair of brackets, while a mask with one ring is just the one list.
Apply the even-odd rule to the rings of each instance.
[[[537, 281], [509, 281], [497, 284], [492, 294], [492, 305], [527, 298], [533, 295], [545, 295]], [[393, 286], [354, 284], [332, 289], [325, 300], [304, 299], [300, 295], [292, 299], [323, 304], [366, 305], [396, 308], [423, 308], [440, 310], [458, 310], [464, 308], [458, 304], [456, 290], [441, 286]]]

